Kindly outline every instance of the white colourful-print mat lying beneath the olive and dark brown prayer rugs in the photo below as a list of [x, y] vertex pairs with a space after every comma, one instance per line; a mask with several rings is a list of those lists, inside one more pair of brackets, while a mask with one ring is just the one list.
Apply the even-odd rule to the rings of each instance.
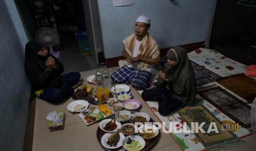
[[[142, 93], [142, 91], [138, 91], [139, 94]], [[221, 112], [219, 109], [213, 106], [213, 104], [209, 103], [208, 101], [204, 100], [203, 97], [197, 95], [197, 98], [199, 100], [203, 101], [203, 106], [206, 107], [218, 120], [222, 121], [224, 124], [228, 125], [235, 125], [236, 121], [229, 118], [226, 114]], [[145, 101], [146, 104], [150, 107], [151, 111], [154, 112], [154, 114], [159, 118], [162, 123], [165, 123], [165, 127], [167, 130], [170, 130], [172, 127], [172, 123], [184, 123], [184, 120], [181, 118], [181, 116], [176, 112], [168, 116], [162, 116], [158, 112], [158, 102], [157, 101]], [[178, 125], [177, 125], [178, 126]], [[182, 127], [183, 128], [183, 127]], [[188, 130], [190, 130], [188, 128]], [[239, 125], [238, 131], [233, 131], [239, 138], [246, 137], [251, 135], [252, 133], [247, 130], [246, 128]], [[179, 143], [179, 145], [183, 148], [183, 150], [204, 150], [204, 145], [197, 139], [197, 136], [195, 136], [194, 133], [170, 133]]]

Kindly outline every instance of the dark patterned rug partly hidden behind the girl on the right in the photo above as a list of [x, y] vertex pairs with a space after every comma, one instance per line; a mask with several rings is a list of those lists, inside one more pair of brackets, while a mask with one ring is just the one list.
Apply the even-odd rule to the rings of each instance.
[[[166, 57], [162, 58], [160, 60], [160, 63], [155, 65], [155, 68], [159, 71], [163, 71], [165, 69], [164, 65], [166, 62], [167, 62]], [[200, 65], [198, 65], [197, 63], [191, 60], [190, 60], [190, 63], [194, 69], [195, 82], [197, 83], [197, 85], [205, 84], [208, 82], [214, 82], [216, 79], [221, 78], [220, 75], [217, 75], [209, 71], [208, 69], [201, 67]]]

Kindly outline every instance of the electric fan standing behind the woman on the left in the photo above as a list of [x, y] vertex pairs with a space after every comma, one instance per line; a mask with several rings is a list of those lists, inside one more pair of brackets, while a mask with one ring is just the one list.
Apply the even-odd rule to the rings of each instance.
[[50, 54], [59, 57], [61, 52], [53, 51], [52, 47], [59, 43], [59, 34], [52, 28], [43, 27], [36, 31], [35, 39], [50, 49]]

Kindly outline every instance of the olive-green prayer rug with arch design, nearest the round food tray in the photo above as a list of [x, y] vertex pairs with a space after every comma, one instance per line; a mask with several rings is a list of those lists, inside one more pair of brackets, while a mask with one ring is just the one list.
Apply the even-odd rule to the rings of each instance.
[[[225, 127], [222, 126], [221, 121], [217, 120], [213, 114], [208, 111], [204, 106], [194, 106], [194, 107], [185, 107], [179, 109], [179, 114], [181, 115], [182, 119], [187, 121], [187, 124], [191, 126], [192, 122], [198, 122], [199, 125], [201, 123], [205, 123], [202, 126], [203, 130], [206, 133], [201, 132], [200, 130], [197, 135], [197, 138], [200, 140], [201, 143], [206, 147], [206, 149], [211, 149], [215, 147], [222, 147], [227, 146], [231, 142], [238, 141], [238, 137], [232, 131], [228, 131]], [[217, 131], [209, 131], [213, 129], [214, 126], [211, 126], [211, 123], [216, 124]], [[232, 143], [231, 143], [232, 145]]]

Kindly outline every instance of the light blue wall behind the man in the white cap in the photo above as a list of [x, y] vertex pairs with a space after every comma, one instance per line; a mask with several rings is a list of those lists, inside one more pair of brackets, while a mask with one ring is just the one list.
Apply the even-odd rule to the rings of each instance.
[[139, 15], [151, 18], [150, 34], [159, 48], [203, 42], [216, 0], [133, 0], [127, 7], [113, 7], [112, 0], [98, 0], [105, 57], [122, 55], [122, 40], [134, 31]]

